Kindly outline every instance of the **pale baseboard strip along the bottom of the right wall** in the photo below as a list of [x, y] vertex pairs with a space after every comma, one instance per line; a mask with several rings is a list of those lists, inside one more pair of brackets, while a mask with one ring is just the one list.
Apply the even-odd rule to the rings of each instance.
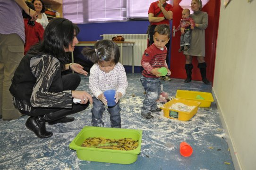
[[222, 126], [223, 126], [223, 129], [224, 129], [225, 135], [227, 137], [227, 143], [228, 143], [228, 146], [229, 146], [229, 149], [230, 149], [230, 154], [231, 154], [231, 158], [232, 158], [235, 170], [243, 170], [242, 166], [241, 166], [241, 163], [239, 161], [239, 155], [238, 155], [238, 153], [236, 151], [236, 148], [234, 146], [232, 137], [230, 135], [229, 127], [228, 127], [228, 125], [227, 125], [227, 123], [225, 121], [225, 118], [224, 118], [223, 114], [222, 114], [222, 108], [219, 105], [218, 97], [215, 95], [214, 88], [212, 88], [212, 94], [213, 94], [214, 101], [215, 101], [215, 103], [217, 105], [218, 112], [220, 113], [220, 118], [221, 118], [221, 121], [222, 121]]

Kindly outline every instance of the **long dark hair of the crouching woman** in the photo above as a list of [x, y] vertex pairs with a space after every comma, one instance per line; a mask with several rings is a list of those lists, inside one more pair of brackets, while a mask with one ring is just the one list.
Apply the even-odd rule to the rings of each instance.
[[69, 45], [72, 45], [74, 38], [74, 31], [79, 33], [79, 28], [76, 24], [65, 18], [54, 18], [46, 26], [43, 34], [43, 41], [34, 45], [28, 53], [30, 54], [49, 54], [56, 57], [62, 66], [67, 64]]

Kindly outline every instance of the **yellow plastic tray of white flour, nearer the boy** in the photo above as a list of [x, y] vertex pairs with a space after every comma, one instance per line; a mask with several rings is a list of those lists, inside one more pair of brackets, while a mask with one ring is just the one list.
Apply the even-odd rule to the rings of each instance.
[[[179, 110], [170, 109], [171, 105], [174, 105], [176, 103], [183, 103], [184, 105], [196, 107], [191, 112], [183, 112]], [[174, 98], [166, 104], [162, 105], [160, 108], [163, 110], [164, 117], [176, 119], [179, 121], [188, 121], [197, 113], [198, 105], [200, 105], [200, 102], [181, 98]], [[175, 114], [175, 116], [173, 114]]]

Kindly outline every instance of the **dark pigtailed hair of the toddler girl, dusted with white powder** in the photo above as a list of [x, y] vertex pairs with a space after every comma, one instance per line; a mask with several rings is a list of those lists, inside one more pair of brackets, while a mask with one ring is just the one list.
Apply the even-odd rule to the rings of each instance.
[[94, 44], [94, 49], [85, 47], [82, 54], [93, 63], [113, 61], [117, 64], [120, 57], [119, 47], [112, 40], [97, 41]]

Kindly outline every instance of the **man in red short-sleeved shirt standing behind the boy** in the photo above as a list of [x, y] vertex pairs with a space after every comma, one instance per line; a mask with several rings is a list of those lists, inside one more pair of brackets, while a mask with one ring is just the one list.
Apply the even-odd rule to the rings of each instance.
[[[171, 4], [166, 3], [168, 0], [158, 0], [152, 2], [148, 9], [148, 20], [151, 24], [149, 30], [149, 43], [152, 45], [154, 43], [154, 28], [159, 24], [170, 25], [170, 20], [172, 19], [172, 9]], [[166, 44], [167, 54], [169, 54], [170, 41]], [[169, 64], [169, 55], [166, 57], [166, 63]], [[170, 77], [164, 76], [163, 80], [170, 81]]]

